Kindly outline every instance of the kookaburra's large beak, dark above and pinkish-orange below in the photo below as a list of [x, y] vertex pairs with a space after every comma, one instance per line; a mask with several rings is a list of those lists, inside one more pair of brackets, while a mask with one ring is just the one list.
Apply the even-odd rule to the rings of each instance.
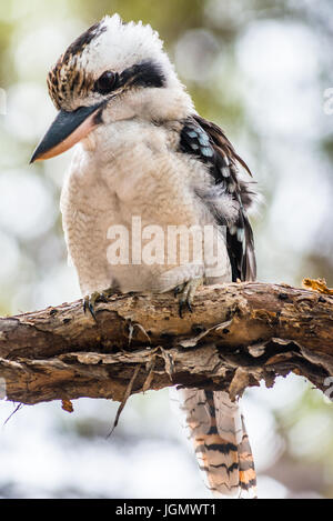
[[101, 120], [104, 101], [93, 107], [80, 107], [73, 112], [61, 110], [37, 147], [30, 163], [54, 158], [85, 138]]

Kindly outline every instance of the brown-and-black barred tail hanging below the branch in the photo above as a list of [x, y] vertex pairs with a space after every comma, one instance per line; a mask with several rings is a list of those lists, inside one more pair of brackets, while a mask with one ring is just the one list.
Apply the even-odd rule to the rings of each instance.
[[189, 438], [213, 495], [256, 498], [253, 457], [238, 403], [226, 392], [182, 389]]

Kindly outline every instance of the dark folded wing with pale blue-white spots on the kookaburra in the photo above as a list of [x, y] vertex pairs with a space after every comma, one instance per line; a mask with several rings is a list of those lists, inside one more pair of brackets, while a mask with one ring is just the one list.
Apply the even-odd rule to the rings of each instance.
[[[230, 201], [233, 208], [232, 219], [225, 217], [223, 209], [205, 200], [220, 226], [226, 227], [226, 248], [232, 268], [232, 280], [255, 280], [256, 262], [252, 228], [248, 209], [255, 200], [253, 182], [244, 181], [239, 171], [243, 167], [251, 172], [246, 163], [236, 154], [223, 131], [214, 123], [200, 116], [188, 118], [181, 131], [180, 148], [208, 164], [214, 178], [215, 194]], [[222, 203], [223, 206], [223, 203]]]

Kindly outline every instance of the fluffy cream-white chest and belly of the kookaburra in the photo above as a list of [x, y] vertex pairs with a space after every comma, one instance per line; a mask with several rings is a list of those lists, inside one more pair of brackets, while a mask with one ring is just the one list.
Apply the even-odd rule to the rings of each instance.
[[[205, 167], [178, 152], [175, 137], [160, 128], [119, 124], [103, 138], [78, 149], [61, 198], [82, 292], [105, 289], [111, 281], [122, 291], [164, 291], [196, 275], [198, 267], [184, 268], [179, 252], [172, 265], [168, 262], [165, 238], [175, 227], [189, 230], [213, 222], [196, 196], [211, 183]], [[144, 246], [152, 230], [163, 262], [161, 257], [134, 262], [134, 242]], [[128, 241], [124, 262], [110, 262], [110, 240], [119, 233]]]

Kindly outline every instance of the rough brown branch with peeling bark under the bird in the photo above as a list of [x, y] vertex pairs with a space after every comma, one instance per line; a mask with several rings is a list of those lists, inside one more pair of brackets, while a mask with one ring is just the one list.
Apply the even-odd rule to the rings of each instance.
[[8, 400], [33, 404], [80, 397], [124, 401], [181, 384], [246, 387], [293, 371], [327, 390], [333, 375], [333, 297], [284, 284], [201, 289], [179, 317], [171, 294], [114, 295], [0, 319], [0, 378]]

